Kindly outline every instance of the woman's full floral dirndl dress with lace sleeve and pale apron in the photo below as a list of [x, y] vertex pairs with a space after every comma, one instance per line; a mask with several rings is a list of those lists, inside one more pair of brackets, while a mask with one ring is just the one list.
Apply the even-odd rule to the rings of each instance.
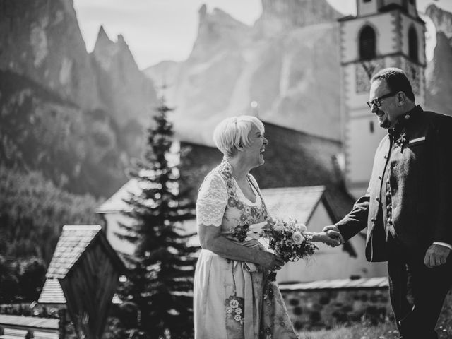
[[[255, 203], [244, 196], [231, 165], [223, 160], [204, 179], [196, 218], [198, 225], [221, 227], [221, 233], [237, 244], [265, 250], [257, 240], [258, 230], [249, 226], [265, 221], [267, 210], [256, 180], [251, 174], [248, 179]], [[278, 285], [267, 277], [268, 271], [254, 263], [202, 249], [194, 280], [195, 338], [297, 338]]]

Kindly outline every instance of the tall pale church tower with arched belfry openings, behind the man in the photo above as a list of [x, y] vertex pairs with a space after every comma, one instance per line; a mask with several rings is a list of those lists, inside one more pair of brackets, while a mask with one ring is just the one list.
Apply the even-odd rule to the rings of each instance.
[[423, 105], [426, 65], [425, 23], [415, 0], [356, 2], [357, 16], [339, 19], [345, 180], [355, 197], [367, 189], [374, 152], [386, 133], [366, 104], [371, 76], [385, 67], [403, 69]]

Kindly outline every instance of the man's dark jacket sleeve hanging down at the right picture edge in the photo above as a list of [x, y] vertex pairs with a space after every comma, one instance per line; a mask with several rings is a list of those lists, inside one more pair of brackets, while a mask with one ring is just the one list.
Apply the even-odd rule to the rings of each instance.
[[452, 118], [444, 116], [436, 127], [434, 148], [438, 187], [438, 213], [433, 227], [433, 242], [452, 245]]

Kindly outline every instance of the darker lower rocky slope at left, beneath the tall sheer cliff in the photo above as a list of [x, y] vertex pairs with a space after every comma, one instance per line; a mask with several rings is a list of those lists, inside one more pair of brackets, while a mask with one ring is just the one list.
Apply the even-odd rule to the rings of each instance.
[[109, 196], [126, 177], [117, 125], [44, 86], [0, 71], [0, 165], [39, 171], [61, 189]]

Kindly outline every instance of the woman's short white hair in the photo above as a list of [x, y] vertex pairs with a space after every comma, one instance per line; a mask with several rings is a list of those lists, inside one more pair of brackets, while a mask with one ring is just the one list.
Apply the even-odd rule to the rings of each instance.
[[253, 125], [264, 133], [262, 121], [251, 115], [226, 118], [215, 127], [213, 141], [226, 157], [232, 157], [237, 148], [249, 147], [251, 144], [249, 131]]

